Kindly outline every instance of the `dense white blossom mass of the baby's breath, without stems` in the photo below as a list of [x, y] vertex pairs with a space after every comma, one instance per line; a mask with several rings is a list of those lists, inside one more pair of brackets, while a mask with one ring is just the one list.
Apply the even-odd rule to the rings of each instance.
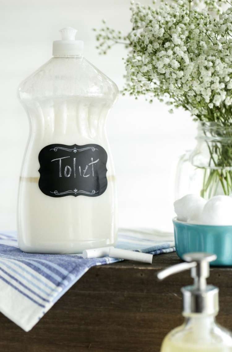
[[217, 120], [219, 107], [230, 115], [232, 7], [218, 18], [205, 10], [189, 11], [182, 0], [158, 9], [136, 3], [131, 11], [130, 94], [161, 101], [168, 96], [169, 104], [183, 106], [200, 120]]

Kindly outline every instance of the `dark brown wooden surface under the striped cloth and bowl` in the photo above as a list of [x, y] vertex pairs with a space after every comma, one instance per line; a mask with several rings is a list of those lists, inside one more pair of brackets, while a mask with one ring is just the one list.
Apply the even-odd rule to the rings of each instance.
[[[180, 288], [189, 272], [158, 282], [179, 263], [175, 253], [153, 264], [124, 261], [91, 268], [28, 333], [0, 314], [0, 352], [159, 352], [164, 336], [183, 321]], [[232, 330], [232, 268], [212, 268], [220, 288], [218, 322]]]

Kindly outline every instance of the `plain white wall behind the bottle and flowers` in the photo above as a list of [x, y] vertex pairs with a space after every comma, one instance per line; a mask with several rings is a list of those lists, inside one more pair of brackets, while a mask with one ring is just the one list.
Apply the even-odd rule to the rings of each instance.
[[[143, 4], [152, 1], [141, 0]], [[20, 81], [51, 57], [64, 26], [78, 29], [85, 57], [123, 87], [123, 46], [107, 56], [95, 49], [101, 20], [130, 30], [129, 0], [0, 0], [0, 231], [16, 227], [17, 189], [28, 121], [16, 96]], [[115, 161], [120, 225], [172, 229], [178, 157], [195, 142], [195, 124], [181, 110], [143, 98], [122, 97], [108, 119]]]

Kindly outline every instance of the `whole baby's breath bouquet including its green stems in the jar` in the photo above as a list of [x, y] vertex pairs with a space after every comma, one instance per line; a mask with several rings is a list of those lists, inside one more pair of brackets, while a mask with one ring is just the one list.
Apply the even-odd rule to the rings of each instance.
[[[194, 120], [232, 127], [230, 0], [179, 0], [158, 7], [132, 1], [130, 10], [128, 34], [110, 29], [105, 22], [96, 34], [100, 54], [118, 43], [128, 49], [123, 94], [144, 95], [151, 103], [156, 98], [170, 105], [170, 113], [183, 107]], [[225, 194], [232, 191], [232, 136], [227, 131], [232, 130], [225, 129], [224, 137], [230, 140], [226, 146], [208, 145], [208, 165], [213, 160], [217, 169], [213, 176], [219, 178]], [[217, 133], [220, 137], [221, 128], [214, 129]], [[209, 183], [206, 178], [205, 182]]]

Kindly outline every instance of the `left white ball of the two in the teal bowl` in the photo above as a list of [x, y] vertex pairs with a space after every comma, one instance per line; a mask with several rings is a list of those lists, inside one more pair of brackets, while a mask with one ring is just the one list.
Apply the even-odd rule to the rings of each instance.
[[174, 209], [177, 220], [197, 222], [205, 204], [206, 200], [195, 194], [187, 194], [176, 200], [174, 202]]

